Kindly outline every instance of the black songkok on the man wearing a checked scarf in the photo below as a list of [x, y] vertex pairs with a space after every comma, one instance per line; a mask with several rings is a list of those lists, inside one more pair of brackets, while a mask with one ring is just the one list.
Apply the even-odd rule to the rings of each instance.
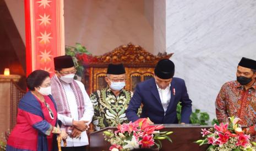
[[58, 57], [55, 57], [53, 60], [54, 60], [55, 70], [59, 70], [63, 68], [71, 68], [75, 66], [72, 60], [72, 57], [69, 55], [58, 56]]

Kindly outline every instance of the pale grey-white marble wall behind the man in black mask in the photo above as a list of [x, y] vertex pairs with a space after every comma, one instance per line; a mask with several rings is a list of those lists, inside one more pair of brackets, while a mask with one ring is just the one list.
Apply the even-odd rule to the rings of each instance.
[[256, 60], [256, 1], [166, 0], [166, 51], [186, 80], [193, 108], [215, 118], [221, 85], [236, 79], [239, 60]]

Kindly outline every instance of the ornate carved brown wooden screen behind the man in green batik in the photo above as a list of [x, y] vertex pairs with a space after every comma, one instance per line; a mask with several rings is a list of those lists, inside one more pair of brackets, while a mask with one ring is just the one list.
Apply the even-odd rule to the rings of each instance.
[[[86, 55], [86, 54], [84, 54]], [[107, 66], [110, 63], [123, 63], [126, 69], [126, 90], [134, 91], [139, 82], [151, 78], [154, 75], [156, 63], [161, 59], [169, 59], [172, 54], [161, 54], [157, 56], [148, 53], [139, 45], [131, 43], [106, 53], [102, 56], [90, 56], [90, 61], [84, 62], [85, 75], [83, 82], [88, 93], [105, 88], [105, 76]]]

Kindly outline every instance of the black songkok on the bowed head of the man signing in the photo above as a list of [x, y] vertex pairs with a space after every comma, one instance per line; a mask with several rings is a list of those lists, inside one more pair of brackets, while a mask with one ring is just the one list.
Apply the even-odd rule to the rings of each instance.
[[171, 60], [162, 59], [155, 67], [155, 75], [161, 79], [171, 79], [175, 72], [175, 65]]

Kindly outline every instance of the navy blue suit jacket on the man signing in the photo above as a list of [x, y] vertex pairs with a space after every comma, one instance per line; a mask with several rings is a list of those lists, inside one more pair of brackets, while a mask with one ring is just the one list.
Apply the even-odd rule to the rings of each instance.
[[[174, 90], [175, 89], [175, 92]], [[137, 84], [132, 99], [126, 111], [128, 120], [139, 119], [137, 112], [140, 104], [143, 103], [140, 118], [149, 118], [155, 124], [177, 124], [177, 104], [180, 101], [182, 106], [181, 123], [189, 123], [192, 112], [192, 101], [188, 97], [187, 88], [183, 79], [172, 78], [171, 100], [164, 115], [164, 108], [160, 100], [155, 79], [151, 78]]]

